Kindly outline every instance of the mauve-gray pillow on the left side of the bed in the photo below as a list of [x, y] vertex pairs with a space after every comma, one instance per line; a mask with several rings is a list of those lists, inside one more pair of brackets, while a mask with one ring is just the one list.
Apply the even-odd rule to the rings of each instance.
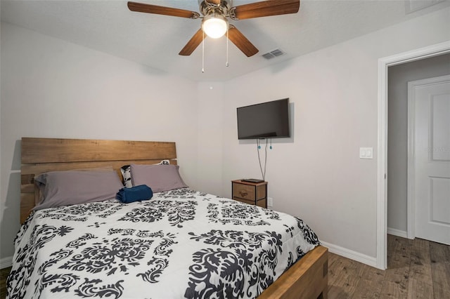
[[34, 178], [41, 190], [41, 202], [34, 210], [70, 206], [115, 198], [123, 187], [114, 170], [51, 171]]

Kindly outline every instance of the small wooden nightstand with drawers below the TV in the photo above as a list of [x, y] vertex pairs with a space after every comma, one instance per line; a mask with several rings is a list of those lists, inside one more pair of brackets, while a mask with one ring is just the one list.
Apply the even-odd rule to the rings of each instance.
[[231, 181], [233, 199], [267, 208], [267, 182]]

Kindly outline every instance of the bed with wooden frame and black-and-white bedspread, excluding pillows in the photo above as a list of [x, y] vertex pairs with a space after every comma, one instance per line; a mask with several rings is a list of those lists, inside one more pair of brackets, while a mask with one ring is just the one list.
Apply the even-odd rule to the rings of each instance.
[[112, 167], [123, 179], [124, 165], [176, 165], [174, 142], [22, 138], [21, 148], [7, 298], [327, 298], [327, 248], [284, 213], [187, 186], [32, 212], [38, 175]]

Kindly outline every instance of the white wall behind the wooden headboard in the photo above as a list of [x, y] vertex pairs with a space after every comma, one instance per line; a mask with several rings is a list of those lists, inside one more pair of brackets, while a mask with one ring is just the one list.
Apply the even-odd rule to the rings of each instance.
[[[176, 86], [176, 88], [174, 88]], [[19, 228], [20, 138], [175, 141], [181, 175], [195, 185], [196, 82], [1, 24], [1, 246]]]

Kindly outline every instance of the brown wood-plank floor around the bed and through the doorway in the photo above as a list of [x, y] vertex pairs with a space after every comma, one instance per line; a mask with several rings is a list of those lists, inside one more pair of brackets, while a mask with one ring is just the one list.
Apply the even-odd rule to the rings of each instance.
[[[0, 270], [0, 299], [6, 277]], [[387, 235], [387, 270], [333, 253], [328, 258], [328, 299], [450, 298], [450, 246]]]

